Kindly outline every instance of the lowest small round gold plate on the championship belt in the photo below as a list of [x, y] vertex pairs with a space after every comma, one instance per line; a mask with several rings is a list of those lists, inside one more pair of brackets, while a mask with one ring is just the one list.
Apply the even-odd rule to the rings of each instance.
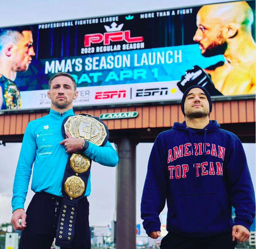
[[71, 197], [82, 195], [85, 190], [85, 183], [79, 176], [70, 176], [65, 182], [65, 192]]

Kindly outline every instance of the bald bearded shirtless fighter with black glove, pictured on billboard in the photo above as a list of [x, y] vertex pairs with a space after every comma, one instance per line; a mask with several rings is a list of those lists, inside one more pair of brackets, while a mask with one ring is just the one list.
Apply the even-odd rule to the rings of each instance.
[[246, 1], [209, 4], [197, 13], [193, 40], [201, 55], [223, 55], [224, 61], [205, 69], [194, 66], [177, 83], [184, 93], [194, 85], [212, 96], [255, 94], [255, 41], [253, 11]]

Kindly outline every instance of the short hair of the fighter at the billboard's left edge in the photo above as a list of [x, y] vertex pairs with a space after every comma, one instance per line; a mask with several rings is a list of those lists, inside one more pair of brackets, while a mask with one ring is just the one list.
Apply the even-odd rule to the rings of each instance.
[[11, 27], [11, 28], [1, 28], [0, 29], [0, 52], [2, 47], [8, 43], [18, 43], [19, 40], [22, 38], [23, 31], [31, 31], [32, 27], [29, 25], [26, 26], [18, 26], [18, 27]]

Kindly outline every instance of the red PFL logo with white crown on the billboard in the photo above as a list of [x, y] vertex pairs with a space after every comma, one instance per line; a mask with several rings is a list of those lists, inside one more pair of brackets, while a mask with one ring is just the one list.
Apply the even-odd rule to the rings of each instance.
[[138, 37], [131, 37], [131, 31], [126, 30], [126, 31], [121, 31], [123, 27], [123, 23], [120, 25], [117, 25], [115, 22], [113, 22], [109, 27], [104, 25], [106, 29], [106, 33], [100, 34], [87, 34], [85, 35], [85, 47], [90, 47], [91, 43], [101, 43], [103, 41], [104, 45], [109, 45], [110, 41], [111, 42], [121, 42], [121, 41], [126, 41], [127, 43], [132, 43], [132, 42], [143, 42], [143, 37], [138, 36]]

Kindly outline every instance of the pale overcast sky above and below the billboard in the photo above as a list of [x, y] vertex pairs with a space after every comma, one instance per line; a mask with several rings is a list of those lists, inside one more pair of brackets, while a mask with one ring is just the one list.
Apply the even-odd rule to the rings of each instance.
[[[79, 19], [97, 17], [101, 15], [132, 13], [157, 9], [170, 9], [191, 5], [191, 0], [164, 1], [164, 0], [0, 0], [1, 26], [32, 24], [58, 20]], [[194, 0], [193, 5], [217, 3], [221, 0]], [[3, 11], [8, 10], [8, 11]], [[243, 144], [248, 165], [253, 176], [255, 188], [255, 144]], [[18, 162], [21, 143], [7, 143], [0, 145], [0, 224], [9, 222], [11, 219], [11, 197], [14, 174]], [[137, 145], [137, 177], [136, 177], [136, 222], [141, 224], [140, 199], [146, 177], [147, 163], [152, 143]], [[90, 225], [111, 225], [115, 217], [116, 196], [116, 168], [110, 168], [93, 162], [91, 167], [91, 195], [90, 202]], [[30, 202], [33, 192], [27, 195], [25, 208]], [[167, 213], [167, 208], [163, 210]]]

